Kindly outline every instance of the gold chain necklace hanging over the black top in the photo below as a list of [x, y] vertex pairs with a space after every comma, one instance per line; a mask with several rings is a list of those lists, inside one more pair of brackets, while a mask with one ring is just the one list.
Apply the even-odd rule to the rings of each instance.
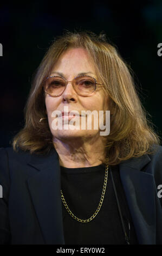
[[62, 190], [61, 190], [61, 199], [62, 199], [62, 202], [63, 202], [65, 208], [67, 209], [67, 211], [69, 212], [70, 216], [72, 216], [76, 221], [79, 221], [79, 222], [89, 222], [89, 221], [92, 221], [93, 218], [98, 214], [98, 212], [100, 211], [102, 202], [103, 202], [103, 198], [104, 198], [104, 196], [105, 196], [106, 185], [107, 185], [107, 175], [108, 175], [108, 165], [106, 166], [106, 169], [105, 169], [105, 180], [104, 180], [104, 183], [103, 183], [103, 189], [102, 189], [102, 194], [101, 194], [100, 203], [99, 203], [98, 208], [96, 209], [95, 213], [94, 213], [90, 218], [88, 218], [88, 220], [81, 220], [80, 218], [77, 218], [77, 217], [72, 213], [72, 211], [70, 211], [70, 209], [68, 208], [68, 205], [67, 205], [67, 203], [66, 203], [66, 200], [65, 200], [64, 197], [63, 197]]

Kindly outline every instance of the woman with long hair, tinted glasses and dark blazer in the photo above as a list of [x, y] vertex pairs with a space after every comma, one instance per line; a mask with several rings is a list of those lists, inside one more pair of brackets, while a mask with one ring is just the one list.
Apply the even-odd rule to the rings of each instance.
[[0, 243], [162, 243], [161, 157], [115, 47], [93, 33], [60, 36], [37, 69], [24, 128], [1, 148]]

